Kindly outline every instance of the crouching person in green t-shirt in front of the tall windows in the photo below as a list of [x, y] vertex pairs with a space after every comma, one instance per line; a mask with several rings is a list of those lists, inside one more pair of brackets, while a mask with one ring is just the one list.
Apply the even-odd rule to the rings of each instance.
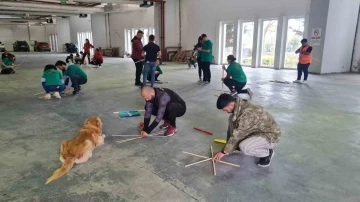
[[223, 65], [223, 70], [226, 71], [227, 75], [225, 78], [222, 78], [221, 80], [230, 89], [231, 95], [234, 96], [240, 93], [247, 93], [251, 99], [253, 93], [251, 92], [250, 88], [243, 90], [247, 82], [244, 70], [242, 69], [242, 66], [239, 63], [235, 62], [235, 60], [236, 58], [233, 55], [229, 55], [227, 57], [227, 61], [229, 64], [228, 68], [226, 69], [225, 65]]

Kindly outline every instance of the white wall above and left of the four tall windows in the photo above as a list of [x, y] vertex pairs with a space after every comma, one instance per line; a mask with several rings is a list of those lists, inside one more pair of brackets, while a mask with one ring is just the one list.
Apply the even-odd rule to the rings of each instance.
[[[181, 0], [182, 46], [191, 50], [197, 38], [205, 33], [213, 41], [215, 58], [218, 55], [220, 21], [306, 16], [310, 0]], [[166, 3], [167, 4], [167, 3]], [[176, 15], [176, 14], [174, 14]], [[171, 24], [170, 22], [168, 22]], [[166, 37], [172, 37], [167, 35]], [[175, 38], [178, 38], [175, 36]], [[175, 39], [174, 39], [175, 40]], [[167, 45], [166, 45], [167, 46]]]

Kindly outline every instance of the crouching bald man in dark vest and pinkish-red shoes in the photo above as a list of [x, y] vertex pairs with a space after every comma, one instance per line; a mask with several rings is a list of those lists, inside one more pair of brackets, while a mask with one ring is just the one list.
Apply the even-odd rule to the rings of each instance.
[[[174, 135], [176, 130], [176, 118], [181, 117], [186, 112], [184, 100], [174, 91], [167, 88], [152, 88], [144, 86], [141, 89], [141, 96], [145, 99], [144, 128], [140, 135], [147, 137], [152, 130], [163, 119], [164, 124], [160, 127], [166, 129], [165, 136]], [[156, 116], [149, 126], [151, 115]]]

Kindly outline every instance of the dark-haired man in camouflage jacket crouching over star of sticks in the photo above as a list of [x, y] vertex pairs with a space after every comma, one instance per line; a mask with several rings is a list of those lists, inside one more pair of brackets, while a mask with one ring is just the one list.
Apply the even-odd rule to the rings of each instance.
[[280, 139], [280, 127], [264, 108], [252, 102], [222, 94], [217, 108], [231, 113], [227, 143], [214, 159], [241, 150], [243, 154], [260, 158], [258, 166], [268, 167], [274, 157], [274, 148]]

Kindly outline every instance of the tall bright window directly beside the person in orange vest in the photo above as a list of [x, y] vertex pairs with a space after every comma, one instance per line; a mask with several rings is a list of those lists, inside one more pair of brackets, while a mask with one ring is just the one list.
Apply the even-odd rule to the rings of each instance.
[[289, 19], [286, 37], [285, 68], [296, 68], [298, 55], [295, 51], [301, 46], [304, 35], [304, 18]]

